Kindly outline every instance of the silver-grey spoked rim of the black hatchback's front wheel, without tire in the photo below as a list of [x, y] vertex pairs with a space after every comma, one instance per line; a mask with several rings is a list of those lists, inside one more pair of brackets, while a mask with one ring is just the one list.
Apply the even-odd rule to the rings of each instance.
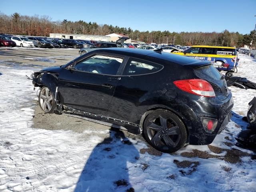
[[52, 93], [47, 87], [44, 87], [40, 93], [40, 106], [44, 112], [52, 110], [53, 98]]

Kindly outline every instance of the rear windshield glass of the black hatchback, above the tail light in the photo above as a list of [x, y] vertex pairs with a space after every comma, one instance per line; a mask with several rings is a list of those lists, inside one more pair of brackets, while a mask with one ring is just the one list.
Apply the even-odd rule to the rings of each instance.
[[201, 79], [207, 79], [210, 81], [220, 80], [222, 76], [220, 72], [212, 66], [212, 64], [194, 69], [194, 74]]

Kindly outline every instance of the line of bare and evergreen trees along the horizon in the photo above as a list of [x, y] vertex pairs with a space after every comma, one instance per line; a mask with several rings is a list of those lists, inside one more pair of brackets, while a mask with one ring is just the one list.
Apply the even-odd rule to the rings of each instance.
[[66, 34], [90, 34], [106, 35], [110, 33], [121, 33], [129, 36], [132, 40], [157, 44], [180, 44], [180, 45], [219, 45], [237, 46], [249, 45], [254, 31], [250, 34], [240, 34], [238, 32], [169, 32], [169, 31], [143, 31], [129, 28], [112, 26], [107, 24], [97, 24], [96, 22], [76, 22], [63, 21], [52, 22], [49, 16], [22, 16], [14, 13], [11, 16], [0, 13], [0, 33], [29, 35], [29, 36], [49, 36], [50, 33]]

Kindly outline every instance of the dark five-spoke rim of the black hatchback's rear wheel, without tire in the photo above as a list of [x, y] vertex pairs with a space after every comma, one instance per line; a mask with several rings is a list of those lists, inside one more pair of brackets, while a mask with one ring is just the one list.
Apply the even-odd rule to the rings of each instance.
[[161, 150], [175, 148], [180, 142], [181, 131], [169, 116], [160, 114], [149, 119], [147, 134], [150, 141]]

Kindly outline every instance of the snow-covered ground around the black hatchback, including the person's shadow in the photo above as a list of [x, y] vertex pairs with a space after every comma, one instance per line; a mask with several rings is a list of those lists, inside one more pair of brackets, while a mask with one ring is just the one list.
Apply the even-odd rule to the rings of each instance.
[[[256, 62], [248, 56], [240, 58], [237, 75], [256, 82]], [[104, 138], [90, 129], [78, 134], [33, 128], [36, 93], [25, 77], [31, 69], [0, 65], [0, 191], [256, 190], [256, 164], [248, 156], [252, 151], [224, 144], [236, 143], [235, 137], [246, 128], [240, 115], [246, 114], [255, 90], [231, 87], [234, 116], [211, 144], [218, 148], [187, 146], [175, 154], [158, 156], [145, 152], [142, 139], [127, 138], [122, 132], [101, 130]], [[232, 148], [240, 154], [230, 157]]]

